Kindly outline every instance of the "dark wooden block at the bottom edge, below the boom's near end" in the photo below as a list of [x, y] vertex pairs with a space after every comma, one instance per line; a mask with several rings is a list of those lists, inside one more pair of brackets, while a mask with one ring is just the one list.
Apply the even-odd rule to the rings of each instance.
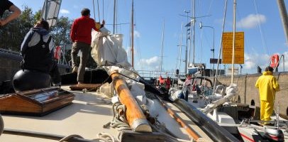
[[148, 141], [157, 141], [164, 142], [165, 136], [161, 133], [138, 133], [133, 131], [121, 131], [120, 141], [125, 142], [148, 142]]

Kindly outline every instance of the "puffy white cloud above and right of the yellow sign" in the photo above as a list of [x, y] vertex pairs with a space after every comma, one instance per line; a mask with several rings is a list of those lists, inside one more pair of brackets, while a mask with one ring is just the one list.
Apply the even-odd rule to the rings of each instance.
[[237, 26], [240, 28], [255, 28], [257, 23], [265, 23], [266, 17], [262, 14], [250, 14], [245, 18], [242, 18], [237, 22]]

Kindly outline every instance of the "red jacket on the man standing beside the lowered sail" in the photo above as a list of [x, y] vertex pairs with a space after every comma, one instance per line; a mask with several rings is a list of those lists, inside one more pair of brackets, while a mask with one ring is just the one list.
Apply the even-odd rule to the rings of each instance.
[[92, 28], [95, 31], [95, 21], [93, 18], [89, 18], [89, 16], [81, 16], [74, 20], [71, 28], [70, 38], [72, 42], [82, 42], [91, 45], [91, 32]]

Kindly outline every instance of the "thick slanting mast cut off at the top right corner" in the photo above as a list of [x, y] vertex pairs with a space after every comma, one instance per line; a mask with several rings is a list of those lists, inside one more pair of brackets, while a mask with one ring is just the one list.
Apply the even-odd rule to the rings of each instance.
[[283, 24], [283, 28], [285, 32], [284, 34], [286, 35], [286, 42], [288, 44], [288, 17], [287, 17], [287, 11], [285, 8], [284, 0], [277, 0], [277, 4], [279, 7], [281, 19], [282, 19], [282, 24]]

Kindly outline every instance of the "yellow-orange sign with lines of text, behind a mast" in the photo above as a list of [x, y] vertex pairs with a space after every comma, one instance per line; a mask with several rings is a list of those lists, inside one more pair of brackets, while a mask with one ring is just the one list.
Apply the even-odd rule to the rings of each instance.
[[[222, 36], [222, 63], [232, 64], [233, 32], [224, 32]], [[244, 64], [244, 32], [235, 33], [234, 63]]]

